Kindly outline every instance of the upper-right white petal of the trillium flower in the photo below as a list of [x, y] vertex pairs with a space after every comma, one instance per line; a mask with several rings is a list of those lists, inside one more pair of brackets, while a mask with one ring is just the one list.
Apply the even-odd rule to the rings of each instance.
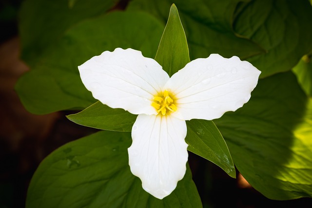
[[212, 120], [235, 111], [248, 102], [260, 71], [238, 57], [212, 54], [188, 63], [164, 86], [176, 96], [177, 111], [183, 120]]

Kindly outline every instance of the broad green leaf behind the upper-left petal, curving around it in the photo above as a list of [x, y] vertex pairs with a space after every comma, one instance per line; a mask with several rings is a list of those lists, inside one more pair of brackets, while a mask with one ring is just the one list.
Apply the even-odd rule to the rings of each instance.
[[77, 67], [117, 47], [137, 49], [146, 57], [155, 57], [162, 31], [161, 23], [142, 12], [112, 12], [81, 22], [20, 77], [16, 90], [31, 113], [84, 109], [96, 100], [83, 86]]

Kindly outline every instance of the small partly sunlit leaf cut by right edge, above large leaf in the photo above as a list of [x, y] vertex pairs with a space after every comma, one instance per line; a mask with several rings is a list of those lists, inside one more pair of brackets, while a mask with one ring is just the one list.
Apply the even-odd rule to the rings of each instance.
[[305, 55], [292, 69], [298, 82], [307, 95], [312, 97], [312, 53]]

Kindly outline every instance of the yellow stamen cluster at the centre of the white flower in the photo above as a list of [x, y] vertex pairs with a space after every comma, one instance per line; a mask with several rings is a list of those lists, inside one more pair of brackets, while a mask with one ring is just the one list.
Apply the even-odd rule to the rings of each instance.
[[161, 112], [162, 115], [165, 115], [166, 113], [175, 112], [177, 109], [168, 90], [165, 90], [160, 96], [155, 96], [153, 99], [155, 102], [152, 102], [152, 106], [156, 109], [157, 113]]

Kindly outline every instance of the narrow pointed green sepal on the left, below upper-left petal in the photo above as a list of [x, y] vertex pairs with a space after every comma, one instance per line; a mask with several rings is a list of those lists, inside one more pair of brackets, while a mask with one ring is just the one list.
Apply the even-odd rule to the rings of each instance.
[[117, 132], [131, 132], [137, 119], [137, 115], [123, 109], [112, 109], [99, 101], [79, 113], [66, 117], [82, 126]]

